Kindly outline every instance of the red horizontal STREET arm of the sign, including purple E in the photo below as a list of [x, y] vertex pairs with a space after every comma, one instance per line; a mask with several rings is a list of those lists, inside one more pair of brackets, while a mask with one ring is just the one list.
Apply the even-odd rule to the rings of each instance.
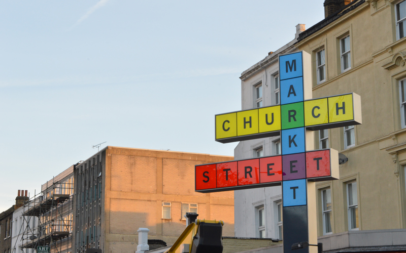
[[336, 150], [321, 149], [195, 165], [195, 190], [208, 193], [276, 186], [282, 181], [335, 180], [339, 179], [338, 159]]

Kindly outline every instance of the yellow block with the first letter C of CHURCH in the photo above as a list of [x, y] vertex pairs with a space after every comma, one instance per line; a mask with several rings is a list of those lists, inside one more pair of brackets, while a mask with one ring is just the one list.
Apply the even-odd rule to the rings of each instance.
[[237, 113], [216, 115], [216, 140], [237, 136]]

